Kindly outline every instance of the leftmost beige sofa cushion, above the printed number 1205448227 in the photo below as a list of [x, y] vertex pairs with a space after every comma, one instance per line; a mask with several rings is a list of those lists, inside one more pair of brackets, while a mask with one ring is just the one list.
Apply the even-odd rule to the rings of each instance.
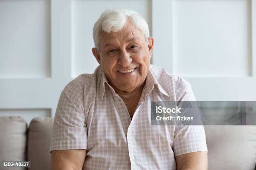
[[[1, 161], [26, 160], [27, 123], [20, 116], [0, 117]], [[15, 168], [21, 170], [23, 168]]]

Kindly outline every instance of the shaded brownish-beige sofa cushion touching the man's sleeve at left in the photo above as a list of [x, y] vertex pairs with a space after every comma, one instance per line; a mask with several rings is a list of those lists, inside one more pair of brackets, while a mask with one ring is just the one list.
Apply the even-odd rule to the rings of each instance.
[[31, 170], [50, 170], [50, 143], [53, 119], [50, 117], [36, 117], [28, 127], [28, 161]]

